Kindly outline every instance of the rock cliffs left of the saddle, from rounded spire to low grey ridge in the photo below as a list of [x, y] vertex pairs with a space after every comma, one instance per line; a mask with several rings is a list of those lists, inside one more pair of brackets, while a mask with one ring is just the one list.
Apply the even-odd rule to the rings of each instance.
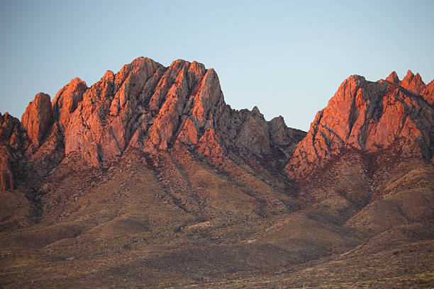
[[92, 166], [115, 162], [128, 148], [156, 154], [175, 140], [190, 149], [201, 140], [196, 148], [200, 153], [220, 152], [205, 149], [208, 139], [213, 140], [211, 147], [256, 157], [278, 152], [284, 164], [304, 136], [287, 128], [283, 118], [267, 122], [256, 107], [251, 112], [231, 109], [216, 72], [204, 64], [177, 60], [163, 67], [144, 57], [116, 74], [106, 72], [89, 88], [72, 79], [51, 103], [48, 95], [38, 94], [23, 124], [35, 144], [33, 151], [45, 139], [50, 143], [38, 155], [59, 155], [61, 147], [65, 157], [74, 154]]

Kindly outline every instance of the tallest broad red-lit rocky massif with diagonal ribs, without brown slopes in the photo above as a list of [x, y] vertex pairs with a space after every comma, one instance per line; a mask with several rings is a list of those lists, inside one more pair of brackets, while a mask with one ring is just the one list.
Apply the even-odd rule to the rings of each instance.
[[[78, 91], [77, 85], [70, 90]], [[185, 60], [163, 67], [139, 57], [82, 91], [64, 122], [65, 154], [94, 166], [116, 160], [128, 147], [154, 154], [177, 137], [196, 144], [226, 106], [216, 72]]]

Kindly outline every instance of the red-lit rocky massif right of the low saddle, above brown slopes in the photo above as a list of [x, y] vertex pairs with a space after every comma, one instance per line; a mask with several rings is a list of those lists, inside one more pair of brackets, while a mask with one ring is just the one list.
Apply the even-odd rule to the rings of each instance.
[[401, 157], [433, 155], [433, 107], [418, 96], [425, 84], [410, 71], [399, 81], [392, 73], [386, 81], [371, 82], [353, 75], [346, 79], [319, 111], [308, 134], [286, 166], [301, 180], [346, 147], [377, 152], [398, 144]]

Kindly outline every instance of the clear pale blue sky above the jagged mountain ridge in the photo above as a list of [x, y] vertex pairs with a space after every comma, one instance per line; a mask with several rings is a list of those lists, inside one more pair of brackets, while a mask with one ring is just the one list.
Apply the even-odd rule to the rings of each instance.
[[351, 74], [434, 79], [434, 1], [0, 1], [0, 112], [135, 57], [216, 69], [226, 103], [308, 130]]

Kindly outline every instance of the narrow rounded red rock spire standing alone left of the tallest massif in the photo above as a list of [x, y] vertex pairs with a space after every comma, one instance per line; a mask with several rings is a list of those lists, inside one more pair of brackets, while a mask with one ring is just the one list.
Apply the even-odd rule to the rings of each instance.
[[36, 94], [35, 99], [28, 103], [21, 117], [21, 123], [27, 129], [30, 140], [36, 147], [39, 147], [52, 123], [50, 96], [42, 92]]

